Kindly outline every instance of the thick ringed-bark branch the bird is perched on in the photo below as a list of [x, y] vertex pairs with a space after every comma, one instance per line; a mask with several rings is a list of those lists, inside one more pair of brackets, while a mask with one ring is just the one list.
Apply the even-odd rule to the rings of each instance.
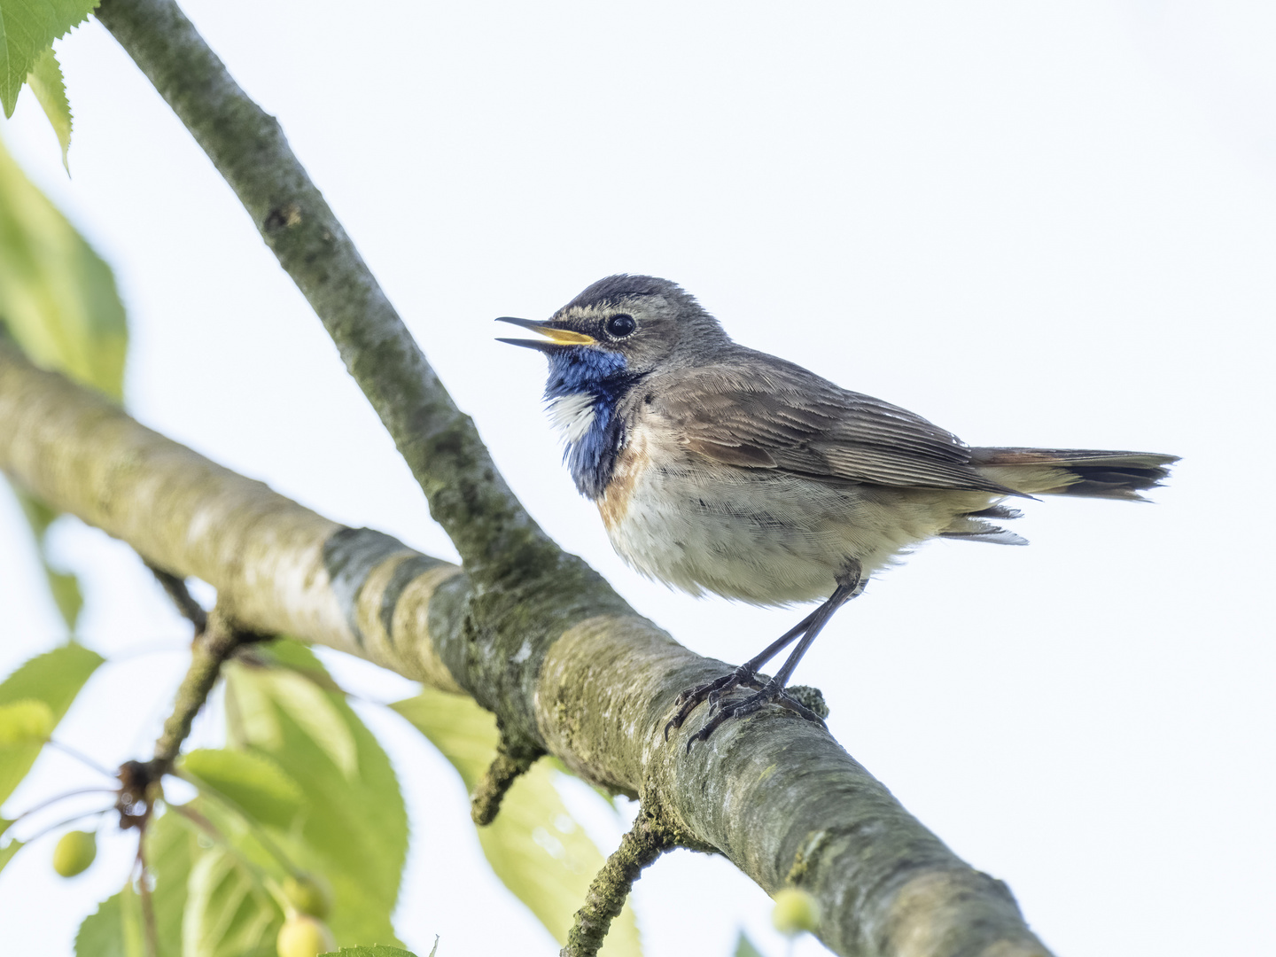
[[[767, 891], [814, 894], [819, 937], [837, 953], [1048, 953], [1004, 884], [958, 860], [820, 729], [764, 709], [689, 754], [680, 735], [666, 745], [678, 693], [726, 666], [623, 605], [600, 614], [570, 592], [528, 596], [522, 618], [476, 627], [487, 606], [457, 567], [322, 518], [4, 343], [0, 470], [160, 567], [209, 582], [245, 628], [452, 692], [510, 672], [507, 686], [526, 698], [503, 711], [530, 713], [538, 746], [641, 795], [680, 843], [720, 850]], [[517, 674], [537, 657], [533, 674]]]

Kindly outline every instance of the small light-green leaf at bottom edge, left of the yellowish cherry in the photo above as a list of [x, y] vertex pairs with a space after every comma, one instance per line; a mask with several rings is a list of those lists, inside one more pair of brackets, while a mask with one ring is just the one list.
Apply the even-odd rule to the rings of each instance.
[[232, 854], [212, 847], [186, 882], [182, 957], [273, 957], [283, 912], [255, 875]]

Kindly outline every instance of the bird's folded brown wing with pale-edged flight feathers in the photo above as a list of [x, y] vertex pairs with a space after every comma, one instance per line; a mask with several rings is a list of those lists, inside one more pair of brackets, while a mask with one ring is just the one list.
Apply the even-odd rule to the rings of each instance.
[[773, 356], [741, 350], [734, 361], [651, 385], [653, 411], [683, 444], [717, 462], [813, 478], [1011, 491], [971, 468], [970, 449], [956, 435]]

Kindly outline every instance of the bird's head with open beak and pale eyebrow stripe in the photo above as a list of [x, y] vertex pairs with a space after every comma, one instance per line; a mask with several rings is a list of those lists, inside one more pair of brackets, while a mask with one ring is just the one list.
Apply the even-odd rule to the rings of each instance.
[[653, 276], [609, 276], [544, 322], [501, 316], [540, 333], [507, 339], [540, 350], [550, 362], [546, 398], [637, 382], [660, 369], [694, 365], [730, 342], [695, 297]]

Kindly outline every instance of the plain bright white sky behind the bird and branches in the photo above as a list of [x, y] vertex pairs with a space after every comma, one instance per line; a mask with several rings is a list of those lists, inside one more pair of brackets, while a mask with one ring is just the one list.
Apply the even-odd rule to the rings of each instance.
[[[493, 342], [588, 282], [681, 282], [739, 341], [975, 444], [1184, 456], [1155, 507], [1027, 503], [1030, 549], [940, 542], [799, 669], [831, 727], [1062, 954], [1276, 952], [1271, 345], [1276, 8], [1265, 3], [348, 4], [186, 9], [277, 115], [532, 514], [643, 614], [738, 662], [795, 610], [641, 579], [579, 499], [544, 362]], [[29, 93], [3, 124], [115, 265], [143, 422], [319, 512], [450, 556], [420, 491], [228, 188], [96, 23], [59, 43], [70, 162]], [[131, 553], [65, 522], [103, 669], [60, 738], [144, 757], [184, 629]], [[0, 498], [0, 674], [61, 635]], [[371, 697], [406, 683], [342, 667]], [[404, 782], [398, 926], [440, 954], [555, 946], [475, 856], [443, 760], [365, 709]], [[197, 734], [213, 740], [214, 722]], [[26, 806], [92, 781], [57, 755]], [[619, 838], [614, 822], [596, 831]], [[11, 952], [69, 953], [131, 838], [74, 882], [0, 877]], [[607, 849], [610, 850], [610, 847]], [[653, 957], [778, 956], [721, 859], [639, 882]], [[808, 940], [796, 953], [820, 952]]]

